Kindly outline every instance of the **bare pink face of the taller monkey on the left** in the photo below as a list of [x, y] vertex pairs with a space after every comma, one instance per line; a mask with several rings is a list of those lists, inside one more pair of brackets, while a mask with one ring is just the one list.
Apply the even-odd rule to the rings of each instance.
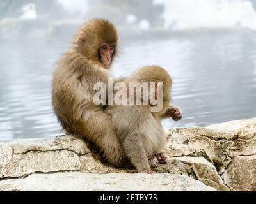
[[102, 47], [100, 47], [100, 61], [102, 62], [104, 68], [109, 68], [114, 51], [115, 47], [111, 44], [102, 45]]

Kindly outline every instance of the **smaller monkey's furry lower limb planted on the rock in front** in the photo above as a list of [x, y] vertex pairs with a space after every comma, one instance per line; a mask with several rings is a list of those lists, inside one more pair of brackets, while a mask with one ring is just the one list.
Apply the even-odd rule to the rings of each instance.
[[155, 173], [150, 169], [140, 136], [136, 134], [128, 135], [124, 140], [123, 147], [126, 156], [131, 160], [137, 172]]

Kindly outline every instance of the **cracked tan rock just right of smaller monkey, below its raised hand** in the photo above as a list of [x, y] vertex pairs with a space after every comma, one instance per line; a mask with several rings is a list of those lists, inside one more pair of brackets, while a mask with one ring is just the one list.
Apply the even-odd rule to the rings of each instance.
[[219, 136], [218, 131], [205, 128], [177, 128], [173, 130], [166, 149], [170, 157], [203, 156], [218, 169], [225, 168], [231, 161], [227, 150], [232, 147], [232, 141], [219, 140]]

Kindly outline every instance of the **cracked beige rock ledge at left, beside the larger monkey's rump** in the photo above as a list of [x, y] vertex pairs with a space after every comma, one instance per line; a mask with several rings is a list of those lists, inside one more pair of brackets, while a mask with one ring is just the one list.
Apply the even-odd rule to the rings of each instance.
[[0, 178], [24, 177], [35, 172], [111, 172], [83, 140], [71, 136], [4, 142], [0, 145], [0, 161]]

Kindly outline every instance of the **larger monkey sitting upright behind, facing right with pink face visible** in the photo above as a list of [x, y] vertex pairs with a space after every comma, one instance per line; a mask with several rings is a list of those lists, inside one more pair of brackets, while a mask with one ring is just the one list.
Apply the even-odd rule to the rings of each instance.
[[93, 101], [93, 86], [97, 82], [108, 84], [117, 43], [118, 34], [111, 22], [86, 22], [58, 61], [52, 80], [52, 106], [62, 128], [90, 141], [115, 166], [123, 161], [122, 149], [111, 115]]

